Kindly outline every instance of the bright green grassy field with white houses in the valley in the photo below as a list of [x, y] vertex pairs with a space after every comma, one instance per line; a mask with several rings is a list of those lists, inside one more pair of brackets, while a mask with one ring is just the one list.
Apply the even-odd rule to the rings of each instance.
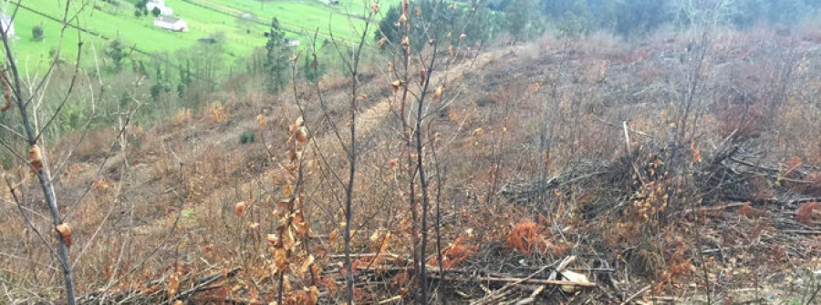
[[[224, 37], [223, 49], [227, 56], [248, 56], [256, 47], [265, 46], [265, 31], [273, 17], [280, 20], [286, 36], [303, 38], [318, 29], [320, 39], [333, 34], [339, 40], [352, 42], [359, 39], [354, 28], [361, 30], [365, 21], [348, 14], [363, 15], [369, 10], [367, 2], [357, 0], [340, 5], [325, 5], [318, 0], [166, 0], [174, 16], [185, 20], [190, 29], [186, 33], [175, 33], [154, 26], [151, 15], [136, 17], [133, 2], [136, 0], [71, 2], [69, 25], [93, 33], [68, 27], [62, 39], [62, 57], [67, 62], [74, 61], [78, 39], [84, 41], [84, 56], [92, 48], [99, 54], [116, 37], [141, 52], [173, 54], [175, 50], [196, 46], [199, 38], [215, 34]], [[27, 68], [36, 69], [36, 65], [47, 64], [50, 51], [58, 46], [58, 20], [62, 18], [65, 2], [24, 0], [22, 5], [14, 20], [17, 39], [13, 49]], [[9, 3], [6, 14], [11, 14], [13, 9], [14, 4]], [[239, 15], [245, 12], [255, 15], [253, 21], [240, 21]], [[36, 25], [45, 29], [45, 39], [38, 42], [32, 40], [32, 28]], [[307, 39], [301, 40], [307, 42]]]

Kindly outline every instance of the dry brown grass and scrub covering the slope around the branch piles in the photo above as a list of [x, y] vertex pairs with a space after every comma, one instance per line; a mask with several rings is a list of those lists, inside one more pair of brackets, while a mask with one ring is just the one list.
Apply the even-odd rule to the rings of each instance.
[[[698, 121], [691, 121], [694, 127], [688, 134], [697, 139], [694, 147], [701, 149], [705, 159], [710, 147], [734, 135], [727, 141], [761, 152], [762, 164], [786, 164], [788, 157], [795, 156], [805, 165], [817, 165], [821, 162], [821, 140], [814, 131], [821, 130], [817, 120], [821, 108], [813, 98], [819, 86], [819, 63], [810, 59], [812, 56], [798, 56], [795, 74], [782, 95], [777, 85], [783, 81], [779, 77], [784, 75], [780, 69], [784, 63], [772, 58], [781, 58], [785, 50], [758, 44], [763, 37], [786, 39], [766, 32], [722, 33], [715, 47], [724, 57], [712, 56], [703, 72], [704, 83], [697, 97], [699, 111], [694, 116]], [[618, 208], [596, 206], [608, 197], [607, 188], [612, 185], [607, 184], [556, 189], [529, 204], [506, 202], [498, 195], [504, 182], [513, 178], [541, 178], [578, 167], [585, 160], [625, 158], [621, 122], [629, 122], [630, 128], [650, 136], [631, 134], [630, 149], [643, 154], [636, 153], [640, 158], [631, 160], [642, 170], [661, 171], [661, 165], [650, 164], [655, 159], [645, 157], [650, 148], [669, 139], [674, 128], [671, 124], [679, 108], [670, 107], [670, 103], [678, 103], [680, 89], [686, 85], [681, 80], [686, 62], [680, 60], [687, 56], [682, 53], [686, 41], [691, 41], [691, 36], [658, 35], [648, 38], [644, 47], [631, 48], [604, 34], [571, 41], [546, 38], [523, 47], [521, 54], [494, 58], [475, 67], [477, 77], [464, 81], [458, 95], [446, 91], [446, 97], [453, 94], [457, 98], [443, 116], [435, 118], [431, 130], [442, 135], [435, 143], [439, 166], [444, 168], [442, 239], [447, 267], [474, 268], [500, 265], [500, 261], [508, 264], [505, 266], [519, 266], [514, 259], [535, 266], [569, 254], [595, 253], [595, 259], [609, 261], [611, 267], [619, 262], [618, 268], [613, 267], [618, 274], [613, 276], [622, 277], [624, 272], [640, 276], [629, 281], [617, 279], [624, 280], [628, 290], [654, 283], [657, 293], [694, 293], [690, 285], [702, 285], [704, 269], [713, 283], [720, 283], [716, 290], [732, 290], [764, 274], [784, 274], [781, 267], [785, 262], [800, 265], [805, 263], [801, 255], [817, 254], [821, 247], [815, 244], [794, 246], [813, 239], [778, 233], [782, 231], [778, 226], [793, 225], [772, 206], [751, 203], [739, 205], [737, 210], [687, 212], [701, 202], [693, 197], [697, 195], [692, 190], [694, 182], [676, 180], [675, 173], [655, 175], [659, 178], [652, 181], [628, 181], [635, 182], [626, 187], [632, 196], [608, 198], [619, 200]], [[414, 239], [407, 204], [410, 194], [402, 180], [409, 155], [400, 141], [398, 119], [392, 115], [398, 107], [396, 100], [384, 94], [392, 79], [385, 78], [374, 72], [363, 80], [363, 91], [369, 98], [361, 110], [384, 106], [378, 104], [383, 99], [388, 100], [389, 110], [384, 116], [373, 117], [362, 139], [352, 245], [357, 253], [390, 253], [406, 259]], [[327, 90], [323, 98], [330, 120], [340, 127], [347, 124], [343, 107], [347, 84], [344, 77], [330, 75], [319, 85]], [[456, 86], [448, 86], [448, 90], [452, 87]], [[277, 185], [287, 180], [279, 168], [287, 152], [277, 147], [286, 143], [288, 122], [301, 115], [292, 103], [272, 105], [293, 98], [309, 106], [305, 119], [315, 141], [309, 145], [305, 176], [305, 217], [315, 237], [307, 240], [306, 247], [320, 262], [317, 265], [334, 266], [338, 259], [331, 256], [341, 250], [343, 218], [341, 189], [332, 171], [344, 168], [347, 157], [340, 152], [327, 118], [320, 116], [319, 97], [310, 94], [307, 84], [298, 88], [306, 93], [300, 97], [225, 93], [214, 96], [222, 102], [202, 111], [182, 109], [160, 126], [147, 130], [135, 127], [129, 139], [139, 145], [118, 152], [125, 157], [112, 160], [100, 175], [91, 165], [108, 151], [112, 134], [105, 130], [89, 133], [61, 173], [57, 188], [61, 205], [79, 202], [71, 209], [68, 222], [75, 229], [71, 252], [78, 258], [80, 290], [141, 287], [146, 280], [176, 272], [203, 273], [235, 266], [244, 268], [238, 280], [246, 284], [265, 279], [266, 238], [275, 226], [270, 215], [283, 192]], [[481, 103], [480, 97], [484, 98]], [[263, 129], [256, 121], [260, 114], [265, 120]], [[482, 132], [475, 132], [478, 128]], [[256, 132], [259, 140], [237, 145], [239, 135], [246, 130]], [[341, 137], [347, 141], [348, 136]], [[77, 139], [69, 136], [50, 151], [63, 151]], [[10, 175], [23, 180], [26, 174], [21, 168]], [[817, 168], [805, 171], [809, 172], [809, 183], [793, 189], [818, 194], [821, 174]], [[766, 176], [749, 181], [748, 195], [753, 202], [766, 202], [778, 195], [773, 182], [774, 178]], [[676, 193], [675, 187], [681, 188], [681, 193]], [[86, 188], [88, 194], [83, 195]], [[50, 232], [48, 221], [38, 216], [45, 209], [37, 204], [36, 185], [29, 179], [20, 190], [26, 192], [26, 207], [32, 209], [28, 215], [35, 219], [37, 228]], [[676, 206], [669, 206], [670, 194], [676, 197]], [[0, 191], [2, 207], [15, 210], [9, 195], [6, 189]], [[234, 212], [240, 201], [245, 203], [242, 218]], [[793, 220], [817, 229], [817, 211], [816, 203], [806, 203], [796, 207]], [[50, 263], [47, 249], [18, 217], [5, 213], [0, 221], [5, 224], [0, 228], [0, 245], [7, 249], [5, 254], [15, 256], [0, 258], [0, 274], [56, 299], [57, 272], [42, 268]], [[469, 229], [473, 236], [464, 233]], [[386, 242], [389, 236], [390, 242]], [[741, 248], [734, 240], [750, 247]], [[693, 248], [696, 242], [701, 242], [702, 249], [722, 249], [722, 257], [716, 256], [719, 252], [709, 252], [706, 261], [701, 261]], [[435, 249], [431, 247], [428, 253], [435, 253]], [[762, 253], [767, 257], [773, 253], [774, 259], [765, 261]], [[387, 267], [396, 263], [386, 258], [371, 257], [359, 264]], [[582, 263], [592, 268], [599, 263], [595, 259], [582, 259]], [[436, 265], [435, 260], [428, 263]], [[410, 277], [408, 273], [395, 274], [388, 281], [390, 289], [411, 289], [414, 280]], [[333, 275], [319, 279], [328, 291], [327, 300], [337, 300], [334, 298], [340, 295], [334, 280], [338, 279]], [[294, 287], [306, 282], [292, 279]], [[254, 287], [239, 281], [223, 286], [235, 285], [240, 287], [237, 291]], [[383, 292], [357, 290], [359, 301], [379, 300]], [[30, 298], [20, 290], [15, 293], [16, 297]], [[561, 298], [567, 297], [546, 294], [546, 300], [566, 300]]]

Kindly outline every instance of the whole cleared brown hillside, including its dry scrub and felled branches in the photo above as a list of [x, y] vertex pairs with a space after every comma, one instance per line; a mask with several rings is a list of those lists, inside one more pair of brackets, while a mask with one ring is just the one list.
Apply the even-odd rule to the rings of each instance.
[[[813, 273], [821, 255], [815, 35], [717, 35], [694, 97], [703, 104], [685, 121], [693, 136], [683, 145], [674, 144], [681, 109], [673, 104], [690, 92], [682, 71], [697, 54], [697, 33], [652, 36], [639, 46], [607, 35], [544, 38], [446, 56], [431, 79], [445, 97], [432, 102], [423, 137], [432, 143], [425, 156], [435, 160], [428, 158], [437, 178], [431, 189], [442, 187], [436, 197], [450, 280], [437, 278], [431, 246], [431, 293], [473, 304], [812, 303], [821, 287]], [[405, 206], [397, 160], [416, 157], [402, 143], [394, 79], [381, 65], [359, 76], [352, 252], [361, 303], [412, 299], [401, 291], [413, 285], [416, 216]], [[300, 247], [316, 260], [290, 283], [318, 282], [318, 300], [340, 303], [344, 219], [334, 175], [346, 168], [339, 141], [349, 138], [335, 126], [349, 122], [349, 89], [332, 74], [316, 86], [297, 83], [296, 96], [218, 92], [209, 98], [221, 103], [182, 109], [147, 130], [89, 134], [57, 179], [57, 197], [74, 208], [65, 220], [74, 228], [78, 290], [85, 298], [98, 291], [154, 300], [140, 298], [168, 292], [174, 277], [193, 289], [194, 279], [216, 274], [230, 279], [184, 298], [273, 301], [273, 262], [264, 253], [277, 222], [268, 217], [291, 192], [283, 182], [293, 181], [284, 169], [293, 160], [287, 145], [302, 120], [310, 149], [304, 214], [297, 214], [313, 233]], [[75, 140], [51, 148], [54, 161]], [[34, 184], [21, 188], [36, 194]], [[12, 202], [7, 189], [2, 196]], [[19, 238], [22, 219], [0, 220], [7, 224], [0, 244], [14, 249], [6, 256], [48, 256], [31, 249], [30, 233]], [[20, 281], [51, 273], [21, 275], [26, 263], [0, 261]], [[551, 281], [561, 280], [548, 277], [560, 262], [584, 274], [587, 288]], [[31, 285], [58, 286], [48, 279]]]

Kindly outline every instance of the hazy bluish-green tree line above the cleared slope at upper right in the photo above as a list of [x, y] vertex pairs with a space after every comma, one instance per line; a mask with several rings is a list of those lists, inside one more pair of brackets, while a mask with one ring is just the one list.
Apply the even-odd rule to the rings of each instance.
[[[433, 2], [425, 0], [420, 5], [430, 3]], [[739, 29], [756, 24], [791, 26], [816, 15], [821, 0], [488, 0], [476, 5], [472, 9], [482, 17], [473, 19], [474, 22], [489, 26], [489, 30], [474, 30], [494, 36], [501, 29], [515, 38], [525, 38], [540, 34], [546, 25], [565, 36], [596, 31], [644, 35], [663, 25], [696, 24], [694, 18], [699, 17], [699, 8], [712, 5], [722, 6], [725, 25]], [[396, 23], [392, 17], [399, 17], [398, 8], [391, 8], [383, 19], [385, 25]], [[487, 15], [494, 17], [486, 18]]]

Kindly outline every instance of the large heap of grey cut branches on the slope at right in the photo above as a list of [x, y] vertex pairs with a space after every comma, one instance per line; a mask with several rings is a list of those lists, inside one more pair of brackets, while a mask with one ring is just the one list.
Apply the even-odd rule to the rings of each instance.
[[546, 205], [555, 201], [556, 195], [581, 189], [588, 196], [586, 216], [595, 218], [617, 211], [613, 207], [628, 206], [626, 203], [635, 198], [641, 186], [664, 182], [667, 186], [691, 188], [685, 190], [701, 199], [701, 206], [750, 202], [797, 209], [800, 204], [821, 201], [817, 195], [821, 175], [811, 171], [817, 167], [797, 163], [759, 164], [753, 153], [740, 146], [717, 147], [708, 158], [701, 159], [701, 152], [694, 146], [650, 143], [613, 161], [581, 161], [550, 177], [511, 179], [500, 195], [510, 202], [549, 208]]

